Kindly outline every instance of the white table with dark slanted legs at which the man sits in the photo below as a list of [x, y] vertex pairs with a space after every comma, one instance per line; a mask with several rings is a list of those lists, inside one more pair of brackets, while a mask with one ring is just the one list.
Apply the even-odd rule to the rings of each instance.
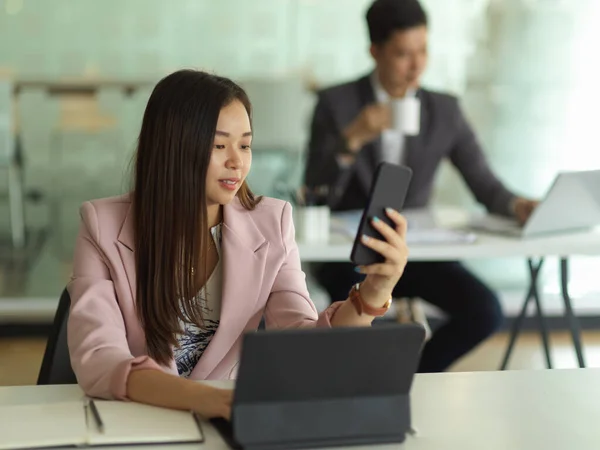
[[[436, 226], [448, 229], [468, 229], [472, 217], [456, 208], [440, 208], [432, 211]], [[559, 274], [561, 294], [565, 305], [565, 316], [569, 322], [573, 345], [579, 367], [585, 367], [581, 337], [577, 319], [568, 291], [568, 257], [600, 255], [600, 232], [587, 231], [539, 238], [521, 239], [506, 235], [493, 235], [478, 232], [472, 244], [415, 244], [410, 245], [410, 261], [458, 261], [467, 259], [490, 259], [522, 257], [529, 266], [530, 284], [525, 301], [517, 316], [511, 338], [500, 368], [505, 369], [512, 354], [516, 339], [521, 331], [523, 320], [527, 314], [529, 303], [536, 304], [540, 333], [546, 356], [546, 365], [552, 367], [550, 344], [546, 319], [542, 312], [541, 296], [537, 280], [544, 258], [557, 256], [560, 258]], [[352, 239], [342, 234], [332, 234], [326, 244], [305, 244], [298, 242], [300, 258], [305, 263], [349, 262], [352, 250]]]

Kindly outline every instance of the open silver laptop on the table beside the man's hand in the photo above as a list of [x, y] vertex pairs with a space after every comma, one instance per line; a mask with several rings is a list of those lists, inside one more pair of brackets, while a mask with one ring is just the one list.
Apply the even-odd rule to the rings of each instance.
[[600, 170], [559, 173], [524, 226], [493, 215], [471, 225], [521, 238], [592, 229], [600, 225]]

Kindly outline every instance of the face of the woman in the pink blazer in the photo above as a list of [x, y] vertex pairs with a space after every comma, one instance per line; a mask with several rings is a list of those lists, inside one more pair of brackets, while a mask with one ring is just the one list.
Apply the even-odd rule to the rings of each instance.
[[246, 179], [252, 164], [252, 130], [246, 108], [239, 100], [219, 114], [208, 173], [208, 206], [229, 203]]

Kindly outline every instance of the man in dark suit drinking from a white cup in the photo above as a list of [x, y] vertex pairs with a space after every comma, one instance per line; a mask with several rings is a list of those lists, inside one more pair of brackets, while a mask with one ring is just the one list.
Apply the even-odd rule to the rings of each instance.
[[[419, 85], [427, 63], [427, 16], [418, 0], [376, 0], [367, 23], [375, 70], [319, 93], [306, 186], [327, 186], [332, 210], [362, 209], [377, 164], [389, 161], [413, 170], [406, 207], [424, 207], [440, 162], [448, 158], [490, 212], [525, 222], [536, 202], [516, 196], [494, 175], [457, 99]], [[407, 96], [421, 105], [415, 136], [391, 127], [389, 102]], [[347, 286], [359, 281], [350, 263], [323, 264], [316, 276], [333, 300], [346, 298]], [[503, 320], [496, 295], [459, 262], [410, 262], [394, 296], [423, 298], [449, 316], [426, 344], [421, 372], [447, 369]]]

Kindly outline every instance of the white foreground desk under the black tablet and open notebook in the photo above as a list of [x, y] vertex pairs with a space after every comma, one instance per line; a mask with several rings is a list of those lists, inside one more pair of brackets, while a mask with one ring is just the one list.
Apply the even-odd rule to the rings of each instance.
[[[0, 387], [0, 405], [57, 402], [81, 395], [77, 386]], [[417, 374], [412, 389], [417, 436], [408, 436], [403, 445], [377, 448], [596, 450], [598, 399], [598, 369]], [[204, 445], [136, 449], [227, 449], [208, 423], [203, 429]], [[351, 447], [366, 448], [373, 447]]]

